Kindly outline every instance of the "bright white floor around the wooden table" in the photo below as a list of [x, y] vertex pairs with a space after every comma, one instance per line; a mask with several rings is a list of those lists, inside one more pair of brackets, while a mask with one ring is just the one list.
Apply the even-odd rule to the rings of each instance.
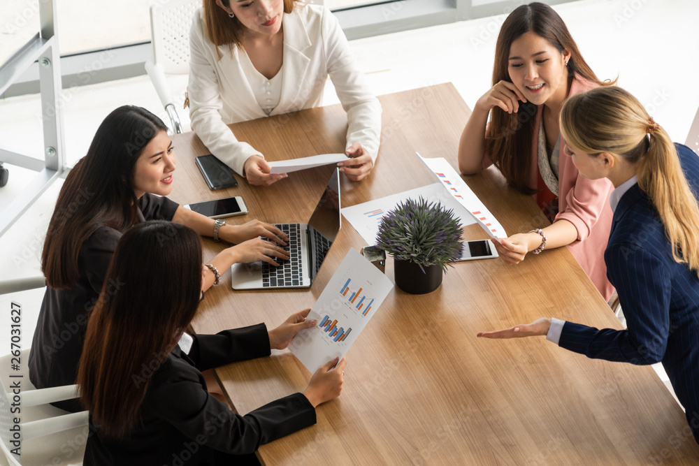
[[[684, 142], [699, 105], [695, 85], [699, 2], [586, 0], [565, 3], [556, 10], [598, 76], [618, 76], [619, 85], [633, 92], [674, 140]], [[490, 86], [493, 50], [504, 19], [503, 12], [481, 20], [361, 39], [351, 46], [377, 94], [451, 81], [466, 103], [473, 105]], [[171, 85], [183, 90], [186, 80], [185, 76], [173, 77]], [[328, 87], [324, 103], [338, 102], [331, 85]], [[65, 92], [66, 151], [71, 165], [85, 154], [103, 117], [125, 103], [164, 117], [145, 75]], [[22, 152], [43, 152], [38, 96], [0, 100], [0, 141]], [[0, 189], [0, 210], [33, 176], [28, 170], [9, 168], [10, 182]], [[0, 279], [39, 273], [43, 236], [61, 184], [55, 183], [0, 238]], [[43, 291], [0, 296], [0, 354], [9, 351], [10, 300], [22, 304], [23, 344], [28, 347], [42, 296]], [[666, 379], [662, 369], [660, 373]]]

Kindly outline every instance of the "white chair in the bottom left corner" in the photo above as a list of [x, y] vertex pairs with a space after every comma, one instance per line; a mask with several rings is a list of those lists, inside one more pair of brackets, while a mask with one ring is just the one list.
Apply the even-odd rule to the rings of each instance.
[[[11, 466], [82, 465], [88, 436], [87, 411], [67, 413], [49, 405], [51, 402], [70, 400], [78, 395], [78, 386], [69, 385], [37, 390], [29, 381], [27, 361], [29, 350], [20, 356], [20, 370], [10, 370], [8, 354], [0, 358], [0, 367], [7, 372], [0, 374], [0, 451]], [[13, 377], [10, 377], [13, 376]], [[22, 376], [22, 377], [17, 377]], [[14, 393], [5, 393], [13, 382], [19, 381], [20, 414], [10, 412]], [[21, 456], [10, 453], [16, 448], [13, 418], [20, 418]]]

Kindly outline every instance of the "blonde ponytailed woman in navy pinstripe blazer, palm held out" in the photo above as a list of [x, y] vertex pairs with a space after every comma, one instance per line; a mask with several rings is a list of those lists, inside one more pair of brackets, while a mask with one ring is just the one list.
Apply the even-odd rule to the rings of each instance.
[[662, 362], [699, 442], [699, 157], [618, 87], [568, 99], [561, 132], [580, 174], [616, 188], [605, 261], [628, 330], [542, 318], [478, 336], [546, 335], [589, 358]]

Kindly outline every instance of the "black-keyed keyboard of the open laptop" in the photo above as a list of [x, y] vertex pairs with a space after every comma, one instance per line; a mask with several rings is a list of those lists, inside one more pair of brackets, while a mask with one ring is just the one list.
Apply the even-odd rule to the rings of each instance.
[[[298, 224], [275, 225], [287, 234], [289, 241], [282, 247], [289, 253], [289, 260], [273, 257], [273, 261], [281, 264], [279, 267], [262, 263], [262, 286], [299, 286], [303, 283], [303, 258], [301, 257], [301, 228]], [[269, 238], [263, 240], [272, 241]]]

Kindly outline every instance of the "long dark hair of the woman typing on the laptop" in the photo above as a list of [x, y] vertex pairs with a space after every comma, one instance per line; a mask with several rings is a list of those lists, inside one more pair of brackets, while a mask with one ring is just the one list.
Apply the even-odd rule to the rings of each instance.
[[137, 219], [134, 166], [145, 146], [167, 131], [145, 108], [124, 105], [99, 125], [87, 155], [66, 177], [48, 226], [41, 271], [53, 289], [80, 279], [82, 243], [101, 225], [124, 230]]

